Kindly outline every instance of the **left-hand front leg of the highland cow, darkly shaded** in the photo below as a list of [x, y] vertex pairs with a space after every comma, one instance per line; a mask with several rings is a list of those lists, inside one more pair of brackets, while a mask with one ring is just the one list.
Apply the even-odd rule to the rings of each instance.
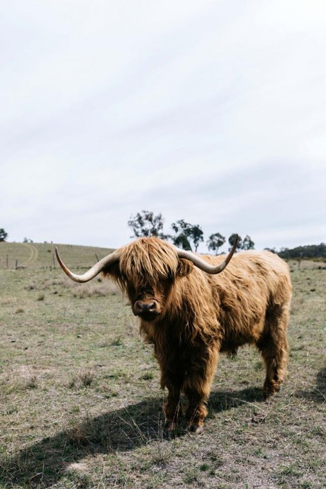
[[169, 431], [174, 431], [182, 415], [182, 406], [180, 400], [181, 385], [184, 381], [183, 376], [179, 373], [162, 371], [161, 386], [167, 387], [167, 401], [164, 403], [164, 413], [166, 426]]

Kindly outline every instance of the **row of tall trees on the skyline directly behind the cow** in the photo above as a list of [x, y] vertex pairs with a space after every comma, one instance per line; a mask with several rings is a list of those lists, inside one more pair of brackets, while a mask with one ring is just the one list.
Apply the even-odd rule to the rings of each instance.
[[[172, 240], [174, 245], [188, 251], [194, 250], [196, 252], [199, 244], [204, 241], [204, 233], [201, 226], [199, 224], [186, 223], [184, 219], [172, 223], [171, 228], [174, 234], [165, 233], [162, 214], [154, 215], [150, 210], [142, 210], [140, 213], [131, 215], [130, 220], [128, 220], [128, 226], [133, 230], [133, 236], [131, 237], [156, 236], [162, 240]], [[233, 233], [228, 238], [230, 249], [235, 244], [236, 237], [237, 234]], [[225, 236], [221, 235], [220, 232], [215, 232], [208, 237], [206, 245], [211, 252], [218, 254], [218, 250], [224, 245], [225, 241]], [[239, 236], [237, 249], [254, 249], [254, 242], [251, 237], [247, 235], [242, 240]]]

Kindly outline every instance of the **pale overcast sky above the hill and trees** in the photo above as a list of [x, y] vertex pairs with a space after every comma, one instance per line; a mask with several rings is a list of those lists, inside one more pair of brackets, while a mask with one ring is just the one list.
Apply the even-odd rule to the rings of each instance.
[[[120, 247], [162, 213], [256, 249], [326, 242], [324, 0], [0, 6], [0, 227]], [[225, 246], [226, 249], [226, 246]]]

